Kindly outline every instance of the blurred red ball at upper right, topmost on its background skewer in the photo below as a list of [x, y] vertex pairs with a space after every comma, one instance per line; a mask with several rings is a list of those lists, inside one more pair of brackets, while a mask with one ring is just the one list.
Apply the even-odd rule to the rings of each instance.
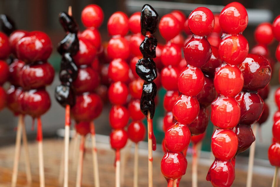
[[268, 45], [273, 40], [272, 25], [271, 23], [261, 23], [259, 24], [254, 32], [255, 40], [259, 44]]

